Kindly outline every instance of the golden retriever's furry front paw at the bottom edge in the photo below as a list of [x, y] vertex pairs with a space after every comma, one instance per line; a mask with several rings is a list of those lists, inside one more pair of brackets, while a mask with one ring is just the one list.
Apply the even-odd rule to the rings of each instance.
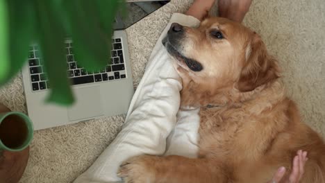
[[143, 155], [126, 160], [119, 166], [117, 176], [126, 183], [155, 182], [155, 167], [157, 157]]

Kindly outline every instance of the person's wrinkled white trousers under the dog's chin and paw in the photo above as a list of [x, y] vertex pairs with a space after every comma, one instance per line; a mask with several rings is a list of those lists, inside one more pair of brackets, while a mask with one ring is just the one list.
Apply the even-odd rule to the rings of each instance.
[[179, 13], [172, 16], [153, 48], [121, 132], [74, 183], [118, 182], [119, 165], [137, 155], [164, 155], [166, 152], [167, 155], [196, 156], [199, 109], [178, 112], [181, 79], [161, 43], [173, 22], [184, 26], [199, 24], [194, 17]]

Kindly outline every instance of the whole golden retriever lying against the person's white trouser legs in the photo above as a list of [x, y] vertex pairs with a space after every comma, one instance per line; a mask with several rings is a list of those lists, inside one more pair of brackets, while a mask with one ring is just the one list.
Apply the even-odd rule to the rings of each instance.
[[308, 151], [301, 182], [325, 182], [325, 143], [301, 122], [260, 36], [208, 17], [198, 28], [172, 24], [163, 44], [183, 80], [181, 106], [200, 107], [199, 154], [133, 157], [120, 177], [132, 183], [263, 183], [280, 166], [289, 174], [301, 149]]

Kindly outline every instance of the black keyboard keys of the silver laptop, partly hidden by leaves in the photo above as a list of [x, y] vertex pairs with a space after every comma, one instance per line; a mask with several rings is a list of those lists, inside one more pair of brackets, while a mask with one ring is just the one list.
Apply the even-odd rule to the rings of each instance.
[[[74, 58], [72, 41], [67, 41], [65, 49], [67, 51], [67, 76], [72, 81], [72, 85], [82, 85], [94, 82], [106, 82], [126, 78], [124, 55], [121, 38], [113, 39], [113, 49], [111, 51], [111, 64], [99, 71], [86, 71]], [[50, 89], [51, 85], [44, 73], [42, 59], [39, 56], [38, 46], [31, 46], [28, 54], [28, 67], [31, 74], [31, 84], [33, 91]]]

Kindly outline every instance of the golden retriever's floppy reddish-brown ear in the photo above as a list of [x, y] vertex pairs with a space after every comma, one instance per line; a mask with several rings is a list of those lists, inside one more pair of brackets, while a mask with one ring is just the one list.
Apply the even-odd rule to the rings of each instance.
[[240, 92], [249, 92], [279, 77], [278, 64], [268, 55], [265, 44], [256, 33], [247, 46], [244, 67], [238, 80]]

